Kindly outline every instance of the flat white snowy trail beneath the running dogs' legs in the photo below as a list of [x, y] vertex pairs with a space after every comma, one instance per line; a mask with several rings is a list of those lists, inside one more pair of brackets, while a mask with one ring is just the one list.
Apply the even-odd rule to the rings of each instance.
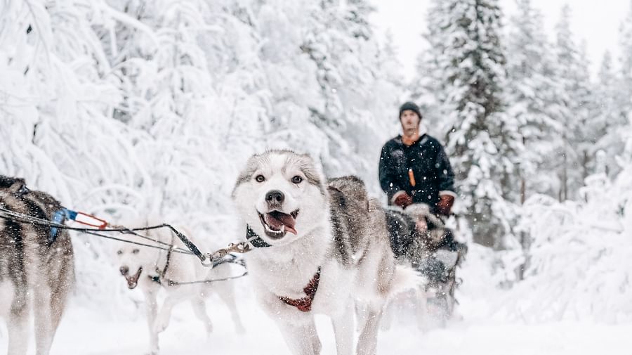
[[[161, 335], [161, 354], [290, 355], [275, 324], [256, 308], [254, 299], [242, 304], [246, 333], [237, 335], [228, 311], [213, 299], [209, 314], [213, 333], [206, 337], [190, 306], [174, 309], [172, 323]], [[142, 316], [104, 314], [71, 304], [62, 321], [52, 355], [138, 355], [147, 352], [147, 330]], [[632, 349], [632, 323], [599, 325], [558, 322], [544, 324], [494, 323], [482, 319], [455, 321], [445, 329], [421, 333], [412, 316], [395, 317], [379, 335], [378, 354], [398, 355], [581, 355], [625, 354]], [[335, 354], [327, 318], [317, 318], [323, 339], [322, 354]], [[6, 349], [6, 329], [0, 333], [0, 352]], [[29, 354], [34, 354], [30, 351]]]

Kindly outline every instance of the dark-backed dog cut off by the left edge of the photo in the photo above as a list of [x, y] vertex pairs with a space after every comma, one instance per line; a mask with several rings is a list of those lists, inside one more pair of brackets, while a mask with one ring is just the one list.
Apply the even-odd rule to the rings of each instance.
[[[48, 221], [62, 210], [51, 195], [29, 190], [24, 179], [1, 175], [0, 207]], [[65, 229], [0, 219], [0, 316], [7, 320], [8, 355], [26, 354], [32, 311], [35, 353], [48, 354], [73, 286]]]

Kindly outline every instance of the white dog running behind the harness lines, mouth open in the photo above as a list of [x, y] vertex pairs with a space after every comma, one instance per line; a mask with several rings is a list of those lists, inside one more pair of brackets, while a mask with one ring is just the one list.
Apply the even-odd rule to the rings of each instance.
[[[132, 224], [130, 224], [132, 225]], [[185, 229], [183, 228], [183, 231]], [[187, 235], [190, 233], [185, 232]], [[160, 228], [147, 231], [147, 238], [169, 243], [180, 249], [186, 249], [180, 240], [169, 229]], [[131, 235], [126, 239], [155, 245], [150, 240]], [[145, 311], [147, 325], [150, 333], [150, 354], [158, 354], [158, 334], [169, 325], [173, 306], [184, 301], [190, 301], [197, 318], [204, 323], [207, 333], [211, 333], [213, 325], [211, 318], [206, 314], [206, 298], [215, 293], [228, 306], [232, 314], [237, 333], [244, 333], [244, 326], [237, 312], [235, 304], [235, 287], [231, 280], [215, 281], [209, 283], [192, 283], [178, 285], [200, 280], [216, 280], [235, 276], [238, 267], [230, 264], [220, 264], [212, 269], [206, 268], [189, 254], [169, 252], [166, 250], [122, 243], [117, 249], [117, 262], [119, 271], [124, 276], [127, 287], [131, 290], [138, 286], [145, 297]], [[166, 298], [159, 307], [157, 295], [159, 290], [166, 292]]]

